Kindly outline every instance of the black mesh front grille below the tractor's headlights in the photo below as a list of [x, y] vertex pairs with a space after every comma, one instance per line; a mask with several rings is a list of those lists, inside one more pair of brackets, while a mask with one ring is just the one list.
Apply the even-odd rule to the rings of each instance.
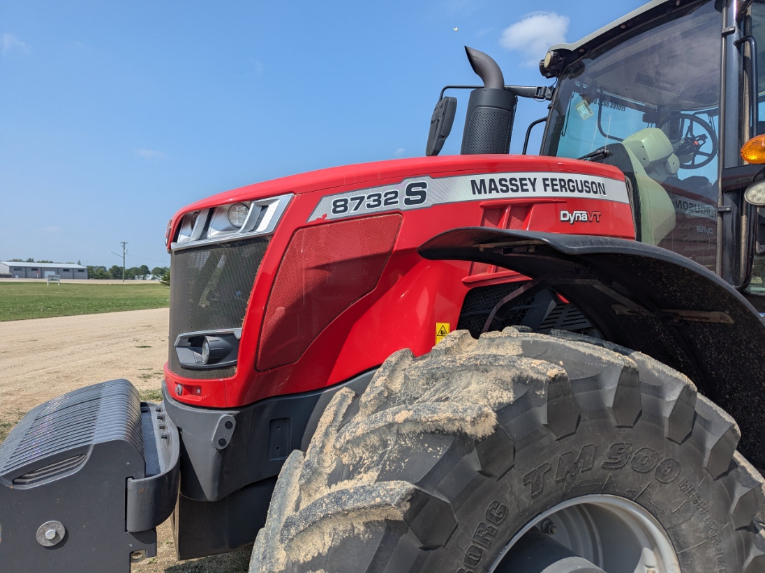
[[184, 332], [240, 329], [252, 283], [269, 238], [231, 241], [177, 251], [170, 280], [170, 370], [187, 378], [233, 376], [236, 367], [192, 370], [181, 367], [175, 353], [177, 335]]

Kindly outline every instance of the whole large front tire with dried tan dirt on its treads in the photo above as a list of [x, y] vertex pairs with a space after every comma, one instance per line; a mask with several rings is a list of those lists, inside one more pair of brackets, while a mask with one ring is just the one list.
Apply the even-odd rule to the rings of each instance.
[[653, 516], [681, 571], [765, 571], [763, 482], [738, 438], [644, 354], [454, 332], [337, 393], [285, 463], [250, 571], [491, 571], [524, 526], [597, 496]]

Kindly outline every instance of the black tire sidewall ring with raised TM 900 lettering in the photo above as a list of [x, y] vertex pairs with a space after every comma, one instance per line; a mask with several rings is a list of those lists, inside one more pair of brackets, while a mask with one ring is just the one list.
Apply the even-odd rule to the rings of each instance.
[[490, 570], [513, 536], [542, 513], [578, 497], [608, 495], [653, 515], [682, 571], [737, 571], [742, 548], [732, 535], [731, 492], [703, 462], [692, 438], [675, 444], [647, 419], [633, 428], [582, 421], [574, 435], [558, 440], [537, 435], [516, 446], [515, 465], [500, 479], [474, 484], [455, 511], [457, 529], [434, 570]]

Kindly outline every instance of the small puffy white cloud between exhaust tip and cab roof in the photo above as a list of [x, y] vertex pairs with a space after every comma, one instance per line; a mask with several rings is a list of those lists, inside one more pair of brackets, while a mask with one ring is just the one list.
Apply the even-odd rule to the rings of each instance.
[[523, 65], [535, 66], [553, 44], [566, 40], [568, 16], [555, 12], [533, 12], [502, 31], [500, 44], [508, 50], [523, 54]]

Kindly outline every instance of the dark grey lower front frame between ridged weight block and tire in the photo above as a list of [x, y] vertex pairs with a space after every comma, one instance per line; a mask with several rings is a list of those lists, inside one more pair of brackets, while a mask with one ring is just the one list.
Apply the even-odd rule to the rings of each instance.
[[179, 557], [223, 553], [252, 542], [265, 523], [287, 456], [308, 447], [337, 390], [361, 393], [373, 374], [232, 410], [187, 406], [163, 387], [164, 406], [181, 435], [181, 495], [173, 522]]

